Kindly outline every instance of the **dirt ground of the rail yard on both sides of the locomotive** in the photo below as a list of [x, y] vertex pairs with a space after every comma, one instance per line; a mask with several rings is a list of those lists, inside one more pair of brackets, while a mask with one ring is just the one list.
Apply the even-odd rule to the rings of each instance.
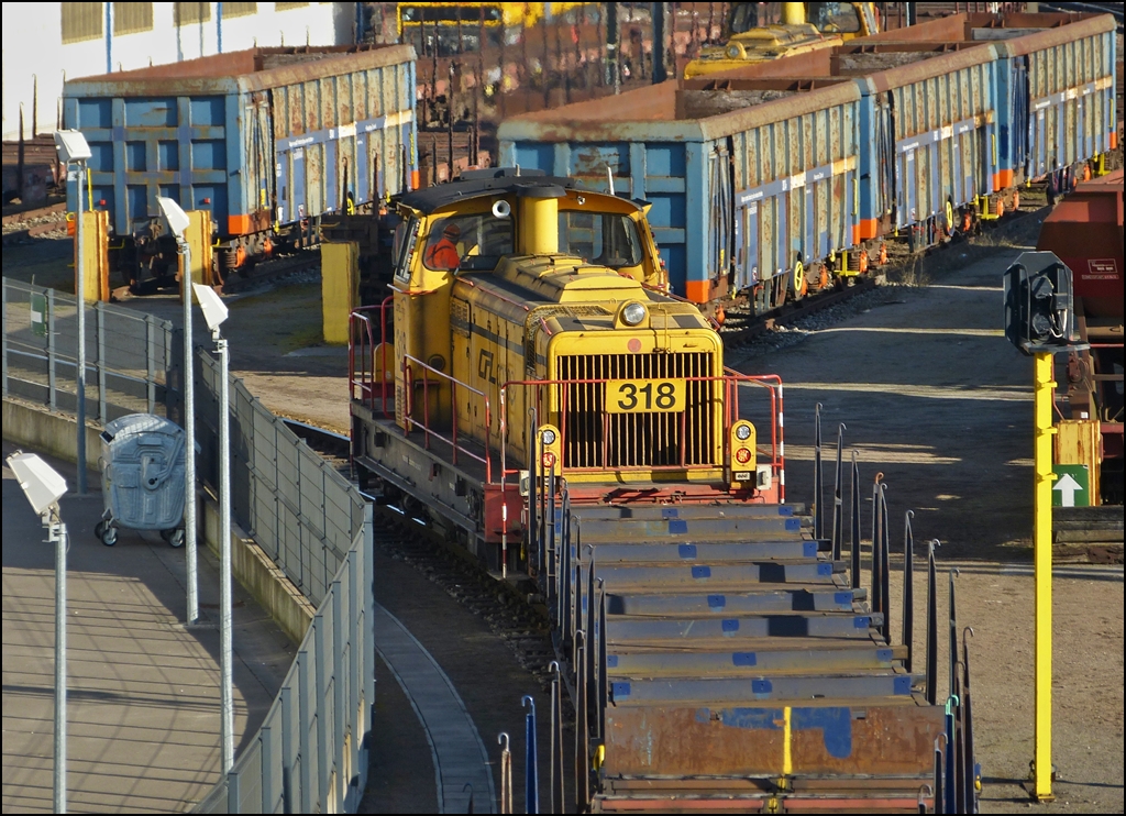
[[[812, 497], [813, 412], [820, 402], [825, 495], [832, 490], [837, 428], [844, 423], [846, 460], [851, 449], [859, 456], [865, 535], [872, 481], [883, 473], [893, 529], [902, 529], [903, 513], [912, 509], [915, 540], [942, 542], [940, 621], [946, 620], [946, 571], [958, 568], [958, 625], [974, 629], [982, 805], [992, 813], [1029, 807], [1021, 786], [1033, 756], [1031, 365], [1002, 337], [1001, 272], [1035, 239], [1038, 222], [1026, 219], [1018, 227], [936, 253], [893, 277], [908, 285], [881, 289], [863, 306], [835, 311], [811, 328], [733, 350], [727, 360], [742, 371], [777, 373], [786, 384], [790, 501]], [[34, 274], [42, 285], [72, 288], [65, 243], [6, 249], [3, 274], [24, 280]], [[172, 295], [125, 305], [179, 321]], [[225, 333], [232, 367], [271, 410], [347, 431], [347, 355], [321, 344], [320, 320], [313, 280], [231, 298]], [[207, 342], [198, 326], [196, 338]], [[744, 404], [757, 415], [750, 402]], [[848, 479], [844, 491], [847, 500]], [[902, 538], [893, 536], [893, 552], [901, 548]], [[920, 625], [923, 559], [920, 545], [914, 575]], [[893, 558], [893, 567], [901, 563]], [[518, 694], [538, 694], [538, 681], [440, 588], [412, 579], [405, 565], [382, 559], [381, 566], [381, 602], [414, 628], [458, 685], [485, 744], [493, 748], [501, 728], [518, 733]], [[896, 579], [896, 638], [901, 591]], [[1056, 567], [1054, 759], [1060, 780], [1057, 800], [1045, 809], [1123, 810], [1123, 603], [1120, 566]], [[921, 662], [924, 640], [917, 629]], [[940, 643], [946, 643], [945, 631]], [[947, 671], [945, 647], [942, 661], [940, 678]], [[377, 738], [386, 741], [375, 750], [386, 764], [375, 768], [378, 787], [369, 789], [366, 806], [426, 810], [432, 807], [434, 769], [426, 745], [419, 745], [421, 729], [403, 714], [405, 700], [388, 685], [393, 681], [382, 683], [387, 696], [377, 711], [383, 724]], [[381, 768], [393, 773], [381, 777]]]

